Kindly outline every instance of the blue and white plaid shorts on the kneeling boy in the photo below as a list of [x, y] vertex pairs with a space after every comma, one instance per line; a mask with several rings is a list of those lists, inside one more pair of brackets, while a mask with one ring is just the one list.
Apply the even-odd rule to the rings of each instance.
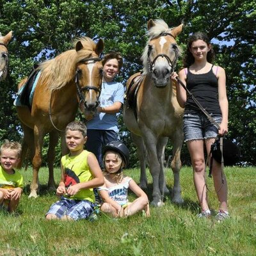
[[73, 220], [80, 220], [89, 218], [94, 207], [95, 204], [88, 200], [75, 200], [61, 196], [61, 200], [52, 204], [47, 214], [54, 214], [59, 219], [67, 215]]

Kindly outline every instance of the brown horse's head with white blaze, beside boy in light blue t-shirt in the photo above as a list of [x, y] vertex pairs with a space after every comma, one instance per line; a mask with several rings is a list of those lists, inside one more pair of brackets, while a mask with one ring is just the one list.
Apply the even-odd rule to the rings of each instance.
[[[83, 49], [79, 41], [76, 44], [76, 51]], [[102, 39], [95, 45], [94, 51], [87, 58], [83, 58], [77, 64], [76, 86], [79, 98], [79, 108], [85, 116], [94, 115], [99, 106], [99, 97], [102, 84], [102, 63], [100, 54], [104, 49]]]

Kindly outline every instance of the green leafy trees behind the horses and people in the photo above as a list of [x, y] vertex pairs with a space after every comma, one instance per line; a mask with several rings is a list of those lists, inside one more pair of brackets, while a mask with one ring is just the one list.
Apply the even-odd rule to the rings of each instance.
[[[255, 1], [250, 0], [0, 0], [0, 31], [5, 35], [13, 30], [14, 35], [8, 45], [10, 74], [0, 86], [0, 140], [20, 140], [13, 99], [17, 84], [28, 75], [33, 63], [67, 51], [77, 36], [90, 36], [96, 41], [102, 38], [105, 52], [115, 50], [124, 56], [124, 68], [118, 79], [125, 84], [142, 67], [140, 56], [147, 43], [147, 21], [163, 19], [170, 27], [184, 23], [178, 38], [183, 48], [195, 31], [204, 31], [212, 39], [216, 64], [227, 73], [228, 137], [241, 147], [243, 161], [255, 164], [256, 141], [251, 139], [256, 136], [255, 7]], [[122, 121], [120, 126], [120, 136], [129, 143], [132, 152], [131, 166], [135, 166], [138, 160], [134, 144]], [[171, 148], [168, 145], [166, 157]], [[189, 163], [186, 147], [182, 162]]]

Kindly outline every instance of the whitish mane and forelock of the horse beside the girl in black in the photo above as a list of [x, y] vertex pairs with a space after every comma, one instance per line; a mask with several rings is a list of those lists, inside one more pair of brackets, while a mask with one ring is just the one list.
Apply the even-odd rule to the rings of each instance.
[[[143, 74], [146, 75], [148, 74], [148, 44], [152, 40], [152, 38], [155, 38], [159, 36], [161, 33], [166, 32], [166, 33], [172, 33], [173, 28], [169, 28], [166, 22], [161, 19], [156, 19], [154, 20], [155, 26], [150, 28], [146, 36], [148, 36], [148, 41], [147, 44], [144, 48], [143, 54], [141, 55], [141, 61], [143, 62]], [[180, 49], [179, 45], [178, 47], [178, 55], [181, 56], [182, 50]]]

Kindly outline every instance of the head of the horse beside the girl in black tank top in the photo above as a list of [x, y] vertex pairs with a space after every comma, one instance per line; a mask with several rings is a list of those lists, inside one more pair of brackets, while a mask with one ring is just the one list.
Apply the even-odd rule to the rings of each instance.
[[143, 72], [150, 74], [154, 84], [164, 88], [170, 82], [170, 76], [180, 56], [180, 48], [175, 40], [182, 31], [182, 24], [168, 28], [163, 20], [148, 21], [148, 44], [142, 55]]

